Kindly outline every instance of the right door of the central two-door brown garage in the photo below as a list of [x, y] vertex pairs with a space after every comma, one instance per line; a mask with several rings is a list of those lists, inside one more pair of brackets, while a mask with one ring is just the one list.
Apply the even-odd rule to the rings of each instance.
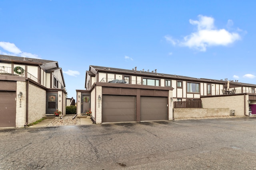
[[167, 120], [167, 98], [140, 97], [140, 121]]

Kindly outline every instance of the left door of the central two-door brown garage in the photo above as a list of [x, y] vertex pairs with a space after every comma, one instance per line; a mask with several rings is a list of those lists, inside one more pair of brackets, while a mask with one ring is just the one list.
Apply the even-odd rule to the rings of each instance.
[[135, 96], [102, 96], [102, 123], [135, 121]]

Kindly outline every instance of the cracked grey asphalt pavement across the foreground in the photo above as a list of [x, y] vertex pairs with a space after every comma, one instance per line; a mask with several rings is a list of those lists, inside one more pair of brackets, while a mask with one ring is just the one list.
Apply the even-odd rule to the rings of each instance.
[[0, 130], [0, 169], [256, 169], [256, 119]]

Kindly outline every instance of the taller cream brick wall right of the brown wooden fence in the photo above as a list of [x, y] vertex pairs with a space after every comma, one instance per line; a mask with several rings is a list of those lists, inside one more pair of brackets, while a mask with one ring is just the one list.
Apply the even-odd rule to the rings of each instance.
[[[217, 96], [210, 98], [201, 98], [203, 108], [228, 108], [235, 110], [236, 116], [244, 116], [244, 107], [246, 115], [248, 115], [249, 104], [248, 95], [236, 95], [236, 96]], [[244, 103], [246, 102], [246, 103]]]

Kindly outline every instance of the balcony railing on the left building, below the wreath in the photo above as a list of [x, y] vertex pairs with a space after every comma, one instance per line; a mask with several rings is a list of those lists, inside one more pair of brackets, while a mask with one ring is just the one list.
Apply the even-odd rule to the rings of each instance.
[[9, 75], [9, 76], [21, 76], [21, 77], [25, 77], [25, 73], [27, 74], [27, 78], [30, 78], [31, 80], [34, 80], [35, 82], [38, 82], [38, 78], [36, 78], [35, 76], [33, 76], [32, 74], [30, 74], [29, 72], [27, 72], [26, 70], [18, 70], [18, 72], [20, 72], [20, 74], [13, 72], [12, 70], [14, 70], [15, 68], [13, 67], [5, 67], [5, 66], [0, 66], [0, 75]]

